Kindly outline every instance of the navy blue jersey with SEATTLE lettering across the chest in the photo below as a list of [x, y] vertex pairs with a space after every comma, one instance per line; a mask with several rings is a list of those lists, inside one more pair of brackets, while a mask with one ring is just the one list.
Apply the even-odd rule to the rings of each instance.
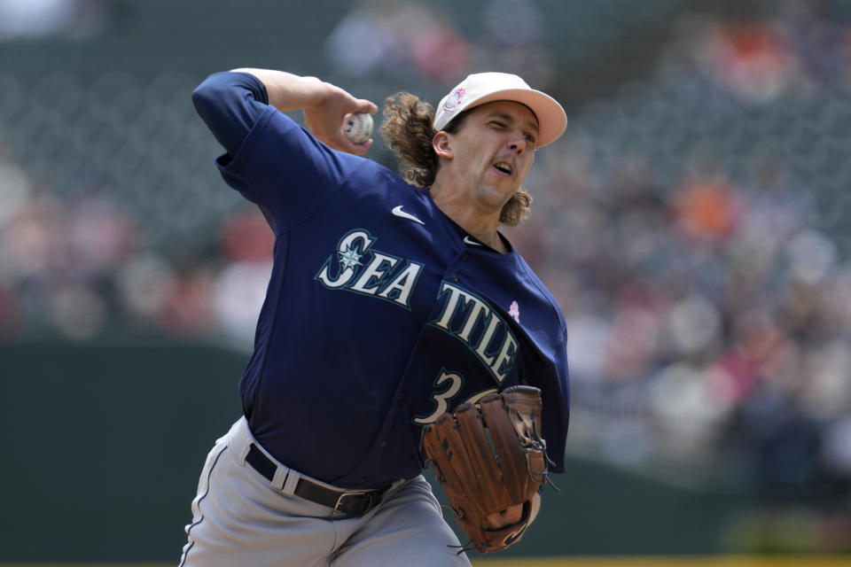
[[[264, 105], [256, 85], [213, 75], [196, 90], [219, 90], [196, 101], [230, 148], [218, 166], [276, 236], [239, 386], [254, 437], [309, 476], [377, 487], [421, 472], [424, 423], [525, 383], [543, 392], [543, 437], [561, 472], [566, 325], [543, 283], [513, 249], [470, 237], [428, 190]], [[240, 94], [211, 111], [227, 89]]]

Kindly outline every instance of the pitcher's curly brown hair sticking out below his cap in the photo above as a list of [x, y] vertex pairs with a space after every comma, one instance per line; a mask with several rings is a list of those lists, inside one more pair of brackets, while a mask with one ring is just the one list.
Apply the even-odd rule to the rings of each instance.
[[[449, 134], [457, 132], [468, 113], [458, 114], [443, 130]], [[420, 189], [432, 186], [440, 167], [432, 147], [432, 139], [437, 134], [433, 122], [433, 106], [416, 95], [399, 92], [386, 98], [381, 136], [396, 156], [404, 180]], [[532, 196], [520, 188], [503, 206], [499, 221], [505, 226], [516, 227], [527, 217], [531, 204]]]

